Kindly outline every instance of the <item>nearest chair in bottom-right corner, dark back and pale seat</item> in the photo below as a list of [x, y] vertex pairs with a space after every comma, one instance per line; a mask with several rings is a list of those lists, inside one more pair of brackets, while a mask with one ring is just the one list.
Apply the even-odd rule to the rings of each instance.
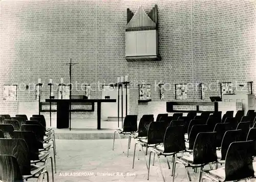
[[202, 171], [202, 181], [240, 181], [254, 177], [252, 166], [253, 141], [233, 142], [230, 144], [225, 158], [225, 167]]

